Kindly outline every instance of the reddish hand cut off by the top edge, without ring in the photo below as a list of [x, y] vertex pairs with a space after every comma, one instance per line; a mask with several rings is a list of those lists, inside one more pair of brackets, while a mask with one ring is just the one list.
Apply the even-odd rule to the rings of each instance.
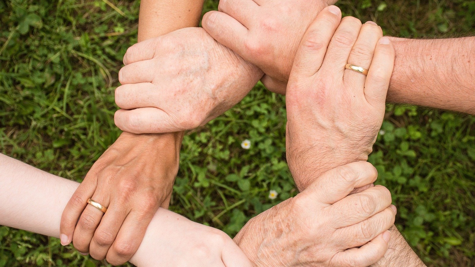
[[295, 52], [305, 30], [320, 10], [336, 0], [220, 0], [202, 25], [219, 43], [231, 48], [266, 74], [267, 89], [285, 94]]

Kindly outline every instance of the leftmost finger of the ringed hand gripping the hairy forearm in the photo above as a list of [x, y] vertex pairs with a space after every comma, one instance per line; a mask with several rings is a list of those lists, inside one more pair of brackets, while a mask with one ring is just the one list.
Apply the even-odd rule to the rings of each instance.
[[323, 9], [310, 24], [294, 59], [293, 75], [310, 77], [322, 66], [330, 40], [342, 18], [336, 6]]

